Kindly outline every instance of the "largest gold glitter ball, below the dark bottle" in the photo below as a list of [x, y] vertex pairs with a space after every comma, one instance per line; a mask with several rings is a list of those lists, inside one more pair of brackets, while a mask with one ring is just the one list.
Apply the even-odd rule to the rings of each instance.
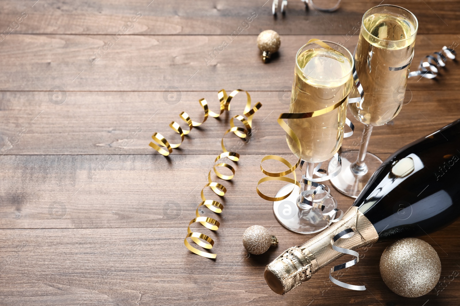
[[437, 252], [425, 241], [404, 238], [383, 251], [380, 275], [394, 293], [419, 297], [436, 286], [441, 276], [441, 261]]

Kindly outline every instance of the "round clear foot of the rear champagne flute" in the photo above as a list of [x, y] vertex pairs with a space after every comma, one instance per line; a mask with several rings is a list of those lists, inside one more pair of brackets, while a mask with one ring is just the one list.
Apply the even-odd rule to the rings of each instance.
[[342, 170], [339, 175], [330, 180], [335, 189], [339, 190], [344, 195], [352, 198], [357, 198], [364, 186], [368, 183], [369, 178], [382, 164], [382, 160], [371, 153], [366, 153], [364, 159], [368, 171], [366, 174], [357, 176], [351, 171], [351, 164], [357, 160], [358, 150], [345, 151], [340, 153], [342, 158]]

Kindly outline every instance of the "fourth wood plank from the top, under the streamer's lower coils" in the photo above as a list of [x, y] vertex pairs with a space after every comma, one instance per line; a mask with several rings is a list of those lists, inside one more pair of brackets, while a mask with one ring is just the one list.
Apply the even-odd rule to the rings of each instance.
[[[182, 224], [185, 233], [216, 156], [2, 156], [0, 227], [130, 228], [155, 223]], [[256, 194], [257, 181], [264, 177], [262, 157], [242, 153], [237, 165], [230, 162], [236, 177], [231, 182], [216, 178], [228, 190], [225, 197], [205, 190], [207, 199], [222, 201], [225, 213], [201, 208], [201, 214], [216, 216], [223, 230], [253, 225], [255, 211], [260, 221], [274, 220], [272, 205]], [[275, 194], [283, 185], [269, 184], [263, 190]], [[341, 207], [351, 203], [340, 197]]]

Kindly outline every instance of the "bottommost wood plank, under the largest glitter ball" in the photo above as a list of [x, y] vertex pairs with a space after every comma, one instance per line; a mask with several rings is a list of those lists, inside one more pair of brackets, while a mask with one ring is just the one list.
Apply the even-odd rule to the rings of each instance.
[[[254, 220], [254, 223], [259, 223]], [[328, 269], [285, 296], [265, 284], [265, 265], [280, 252], [308, 236], [275, 225], [270, 231], [278, 247], [262, 256], [247, 256], [241, 243], [243, 227], [226, 227], [216, 242], [215, 261], [190, 253], [183, 246], [180, 222], [168, 228], [14, 229], [0, 237], [2, 305], [455, 305], [460, 283], [454, 279], [443, 291], [407, 299], [392, 293], [379, 276], [380, 254], [388, 243], [375, 244], [340, 280], [366, 285], [352, 291], [328, 283]], [[234, 225], [236, 225], [234, 223]], [[460, 223], [422, 237], [437, 250], [441, 278], [458, 271]], [[152, 231], [153, 230], [153, 231]], [[444, 251], [446, 253], [444, 253]], [[447, 255], [449, 254], [449, 255]], [[345, 258], [339, 260], [343, 262]], [[441, 288], [441, 287], [440, 287]], [[230, 298], [231, 296], [231, 298]]]

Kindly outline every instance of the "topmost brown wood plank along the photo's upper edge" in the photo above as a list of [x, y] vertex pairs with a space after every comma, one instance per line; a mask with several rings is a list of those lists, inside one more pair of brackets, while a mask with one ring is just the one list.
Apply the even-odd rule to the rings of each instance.
[[[0, 5], [0, 28], [26, 12], [27, 17], [12, 33], [114, 34], [126, 26], [136, 13], [142, 17], [127, 33], [133, 34], [229, 34], [237, 30], [253, 12], [257, 16], [242, 35], [259, 34], [273, 29], [280, 34], [346, 34], [357, 26], [362, 15], [379, 0], [343, 1], [338, 11], [319, 12], [310, 7], [306, 12], [299, 0], [290, 0], [285, 17], [271, 15], [271, 1], [223, 0], [135, 0], [118, 1], [3, 1]], [[317, 0], [321, 5], [324, 1]], [[329, 3], [333, 1], [328, 1]], [[419, 33], [459, 33], [460, 1], [396, 0], [418, 18]], [[247, 25], [243, 25], [248, 27]], [[12, 27], [11, 27], [12, 28]]]

